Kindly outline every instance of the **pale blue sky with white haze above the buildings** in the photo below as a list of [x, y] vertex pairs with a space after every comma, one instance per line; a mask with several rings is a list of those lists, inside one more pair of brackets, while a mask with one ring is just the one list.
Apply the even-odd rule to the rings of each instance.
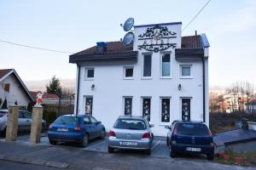
[[[117, 41], [119, 26], [181, 21], [186, 26], [208, 0], [0, 0], [0, 40], [76, 53], [96, 42]], [[182, 36], [206, 33], [210, 86], [248, 81], [256, 86], [256, 0], [212, 0]], [[0, 69], [15, 68], [23, 81], [73, 79], [69, 54], [0, 42]]]

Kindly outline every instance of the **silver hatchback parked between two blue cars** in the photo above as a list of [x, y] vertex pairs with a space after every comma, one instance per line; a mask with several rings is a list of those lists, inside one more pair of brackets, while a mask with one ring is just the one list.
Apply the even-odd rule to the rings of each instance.
[[154, 135], [146, 118], [143, 116], [119, 116], [109, 131], [108, 153], [114, 149], [145, 150], [151, 154]]

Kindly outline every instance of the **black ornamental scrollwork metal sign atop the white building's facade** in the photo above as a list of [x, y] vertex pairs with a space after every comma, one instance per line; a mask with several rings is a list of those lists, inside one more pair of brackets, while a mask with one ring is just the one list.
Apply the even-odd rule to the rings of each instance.
[[138, 49], [145, 49], [158, 53], [168, 48], [176, 48], [177, 43], [171, 43], [170, 39], [176, 38], [177, 33], [169, 31], [167, 26], [154, 26], [148, 28], [146, 32], [139, 35], [138, 40], [143, 40], [142, 45], [138, 45]]

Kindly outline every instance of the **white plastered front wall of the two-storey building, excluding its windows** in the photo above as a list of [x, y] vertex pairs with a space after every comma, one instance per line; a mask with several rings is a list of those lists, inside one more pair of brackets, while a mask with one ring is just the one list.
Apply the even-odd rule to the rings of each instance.
[[[181, 25], [170, 26], [172, 31], [177, 32], [177, 48], [181, 46]], [[143, 33], [146, 28], [135, 28], [135, 35]], [[134, 50], [137, 50], [137, 39], [134, 43]], [[124, 115], [123, 96], [132, 96], [132, 115], [142, 116], [142, 97], [151, 97], [151, 122], [155, 125], [154, 135], [166, 136], [165, 125], [170, 125], [174, 120], [181, 120], [181, 97], [191, 98], [190, 117], [192, 121], [203, 121], [202, 102], [202, 65], [201, 61], [189, 63], [177, 62], [175, 50], [169, 48], [166, 52], [171, 52], [171, 74], [172, 78], [160, 78], [160, 53], [152, 53], [152, 79], [143, 79], [143, 53], [138, 50], [137, 63], [134, 66], [134, 78], [132, 80], [123, 79], [123, 67], [129, 66], [124, 63], [80, 63], [79, 80], [79, 114], [84, 114], [84, 96], [93, 96], [92, 115], [107, 127], [109, 130], [117, 117]], [[191, 79], [180, 78], [180, 65], [190, 64]], [[86, 65], [95, 68], [94, 80], [85, 80]], [[207, 65], [206, 65], [207, 66]], [[178, 84], [182, 85], [182, 90], [177, 89]], [[95, 84], [95, 89], [91, 90], [91, 85]], [[207, 94], [207, 91], [206, 91]], [[160, 122], [160, 97], [171, 98], [171, 121]], [[206, 102], [208, 103], [208, 102]], [[206, 115], [208, 117], [208, 115]], [[207, 118], [208, 123], [208, 118]]]

